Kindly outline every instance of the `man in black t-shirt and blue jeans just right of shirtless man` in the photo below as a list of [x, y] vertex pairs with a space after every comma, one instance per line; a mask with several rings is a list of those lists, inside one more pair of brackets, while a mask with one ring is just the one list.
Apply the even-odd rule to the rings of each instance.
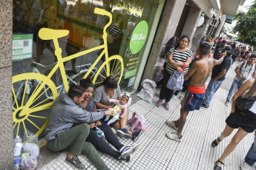
[[[225, 40], [223, 40], [223, 41], [225, 41]], [[220, 65], [217, 65], [216, 67], [214, 67], [214, 69], [212, 69], [211, 80], [207, 86], [205, 98], [201, 105], [201, 107], [203, 107], [204, 109], [209, 108], [211, 99], [214, 97], [215, 92], [220, 87], [222, 82], [225, 80], [226, 72], [228, 72], [229, 68], [231, 67], [232, 47], [226, 46], [224, 51], [226, 51], [226, 57], [224, 58], [224, 61]]]

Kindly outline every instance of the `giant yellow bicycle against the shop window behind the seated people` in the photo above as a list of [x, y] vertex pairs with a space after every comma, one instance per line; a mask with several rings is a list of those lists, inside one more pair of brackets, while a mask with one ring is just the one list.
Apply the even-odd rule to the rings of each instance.
[[[63, 84], [65, 86], [65, 91], [68, 92], [69, 84], [67, 75], [65, 72], [64, 62], [70, 61], [73, 58], [77, 58], [81, 55], [88, 54], [96, 50], [101, 50], [101, 54], [92, 64], [91, 68], [88, 69], [88, 72], [83, 78], [87, 78], [92, 69], [96, 66], [102, 56], [105, 56], [105, 62], [99, 67], [96, 75], [93, 77], [93, 84], [101, 83], [102, 78], [106, 78], [109, 75], [112, 75], [114, 78], [118, 79], [118, 83], [121, 81], [123, 73], [123, 61], [122, 57], [119, 55], [113, 55], [108, 57], [108, 47], [107, 47], [107, 28], [112, 22], [112, 15], [105, 10], [95, 8], [94, 13], [99, 15], [108, 16], [109, 22], [105, 25], [103, 29], [103, 41], [104, 44], [93, 47], [92, 49], [78, 52], [74, 55], [69, 55], [66, 58], [62, 58], [62, 49], [59, 47], [58, 38], [65, 37], [69, 34], [68, 30], [51, 30], [48, 28], [42, 28], [39, 30], [39, 37], [43, 40], [53, 40], [55, 46], [55, 55], [58, 59], [58, 62], [53, 67], [48, 75], [42, 75], [36, 72], [29, 72], [20, 75], [13, 76], [13, 129], [15, 129], [16, 135], [19, 135], [20, 131], [23, 131], [27, 135], [27, 126], [33, 127], [36, 129], [33, 133], [39, 135], [43, 132], [48, 123], [48, 118], [42, 114], [42, 110], [49, 109], [53, 105], [53, 101], [58, 97], [58, 92], [56, 85], [50, 79], [56, 70], [59, 68]], [[114, 67], [110, 68], [110, 63], [114, 63]], [[36, 87], [31, 90], [31, 80], [35, 80]], [[22, 82], [22, 83], [21, 83]], [[24, 90], [22, 94], [16, 93], [17, 90], [14, 87], [14, 84], [24, 84]], [[46, 92], [50, 92], [51, 96], [49, 98], [44, 98]], [[41, 111], [41, 112], [40, 112]], [[21, 128], [23, 126], [23, 128]]]

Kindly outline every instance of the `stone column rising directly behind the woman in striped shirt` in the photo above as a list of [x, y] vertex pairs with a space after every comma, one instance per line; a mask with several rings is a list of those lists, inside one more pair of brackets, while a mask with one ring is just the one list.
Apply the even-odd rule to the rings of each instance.
[[188, 13], [188, 18], [183, 27], [183, 33], [181, 35], [188, 35], [190, 38], [190, 43], [188, 47], [191, 48], [191, 40], [194, 37], [194, 33], [197, 30], [197, 21], [200, 18], [201, 10], [196, 7], [191, 7]]

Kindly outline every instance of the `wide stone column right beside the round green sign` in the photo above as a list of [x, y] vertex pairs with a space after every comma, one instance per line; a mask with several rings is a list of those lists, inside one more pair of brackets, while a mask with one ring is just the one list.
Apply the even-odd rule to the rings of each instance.
[[151, 78], [154, 64], [156, 64], [157, 58], [160, 55], [162, 48], [168, 39], [174, 36], [185, 4], [186, 0], [166, 0], [165, 7], [163, 9], [163, 15], [160, 19], [160, 24], [157, 29], [157, 35], [154, 38], [153, 46], [148, 56], [148, 61], [141, 81]]

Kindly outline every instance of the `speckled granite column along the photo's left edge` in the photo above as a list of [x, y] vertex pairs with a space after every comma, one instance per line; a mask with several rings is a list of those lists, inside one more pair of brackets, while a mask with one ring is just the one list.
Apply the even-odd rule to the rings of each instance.
[[0, 169], [13, 169], [13, 1], [0, 1]]

